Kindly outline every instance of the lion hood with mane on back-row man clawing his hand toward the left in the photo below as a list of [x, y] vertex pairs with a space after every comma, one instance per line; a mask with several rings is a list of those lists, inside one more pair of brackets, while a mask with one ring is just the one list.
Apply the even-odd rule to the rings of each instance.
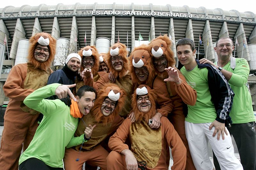
[[[109, 68], [109, 72], [112, 72], [115, 78], [117, 77], [124, 77], [124, 75], [127, 74], [128, 70], [128, 59], [127, 59], [128, 51], [126, 49], [126, 46], [122, 43], [116, 43], [113, 46], [110, 47], [108, 53], [107, 53], [107, 65]], [[112, 56], [120, 56], [123, 59], [124, 66], [121, 71], [116, 71], [114, 67], [112, 66], [111, 58]]]

